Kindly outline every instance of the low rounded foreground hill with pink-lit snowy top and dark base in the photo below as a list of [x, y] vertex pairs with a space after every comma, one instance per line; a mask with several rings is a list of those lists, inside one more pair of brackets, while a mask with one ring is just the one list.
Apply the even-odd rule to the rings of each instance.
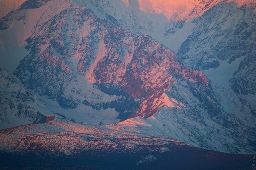
[[0, 139], [3, 169], [248, 169], [252, 157], [195, 148], [128, 122], [24, 125], [0, 131]]

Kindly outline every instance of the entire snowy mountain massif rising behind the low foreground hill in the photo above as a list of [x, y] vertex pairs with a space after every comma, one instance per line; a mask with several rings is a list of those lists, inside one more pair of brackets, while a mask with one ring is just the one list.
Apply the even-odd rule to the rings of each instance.
[[28, 105], [17, 98], [20, 86], [36, 98], [35, 116], [19, 116], [31, 117], [24, 124], [39, 112], [93, 125], [142, 123], [192, 146], [254, 153], [255, 2], [173, 1], [169, 11], [145, 2], [0, 2], [0, 67], [19, 79], [7, 88], [1, 77], [0, 128], [18, 122], [6, 116], [18, 114], [8, 103]]

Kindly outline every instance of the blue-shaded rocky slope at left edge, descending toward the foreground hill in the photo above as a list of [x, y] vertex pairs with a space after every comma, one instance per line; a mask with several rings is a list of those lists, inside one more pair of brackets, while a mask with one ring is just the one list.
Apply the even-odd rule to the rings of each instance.
[[1, 129], [22, 124], [45, 123], [51, 112], [38, 97], [19, 80], [0, 69], [0, 123]]

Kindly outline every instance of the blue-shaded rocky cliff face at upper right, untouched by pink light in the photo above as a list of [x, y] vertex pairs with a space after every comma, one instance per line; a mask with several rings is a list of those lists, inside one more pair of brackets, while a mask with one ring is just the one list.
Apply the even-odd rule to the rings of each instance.
[[[256, 14], [255, 6], [234, 3], [219, 4], [198, 19], [196, 27], [184, 41], [178, 56], [192, 68], [215, 69], [223, 63], [231, 65], [241, 61], [230, 79], [238, 94], [255, 94]], [[224, 12], [223, 11], [229, 11]], [[228, 80], [227, 80], [228, 81]]]

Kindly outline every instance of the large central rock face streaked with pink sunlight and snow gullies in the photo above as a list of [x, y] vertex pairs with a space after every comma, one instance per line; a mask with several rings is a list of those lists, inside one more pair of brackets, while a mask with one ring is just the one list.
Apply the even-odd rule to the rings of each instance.
[[[79, 16], [79, 17], [78, 17]], [[40, 95], [76, 108], [75, 75], [92, 84], [112, 84], [141, 103], [131, 117], [152, 116], [163, 106], [174, 77], [208, 85], [200, 71], [181, 65], [175, 54], [147, 35], [134, 35], [97, 18], [88, 8], [70, 5], [28, 39], [31, 53], [14, 74]], [[75, 60], [75, 61], [74, 61]]]

